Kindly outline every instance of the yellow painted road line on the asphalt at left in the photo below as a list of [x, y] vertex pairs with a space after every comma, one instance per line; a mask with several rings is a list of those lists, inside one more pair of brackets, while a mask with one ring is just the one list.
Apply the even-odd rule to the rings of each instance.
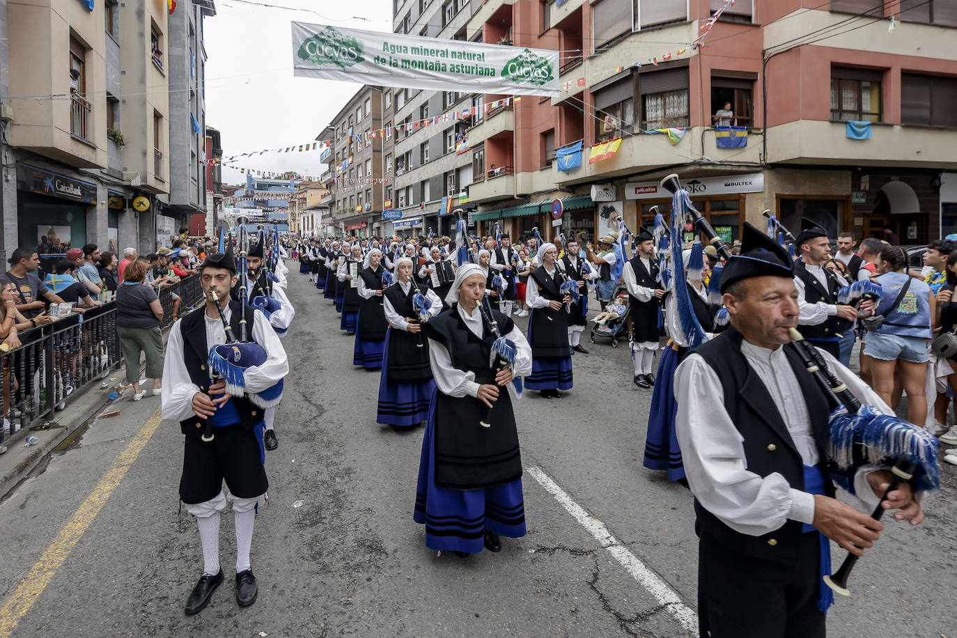
[[60, 530], [56, 540], [47, 548], [47, 551], [43, 552], [40, 560], [36, 561], [20, 586], [0, 608], [0, 637], [10, 636], [13, 627], [16, 627], [20, 619], [30, 611], [30, 607], [33, 606], [33, 603], [36, 602], [36, 599], [39, 598], [56, 575], [56, 570], [70, 556], [74, 545], [82, 538], [83, 533], [90, 527], [93, 519], [100, 514], [103, 505], [106, 504], [106, 501], [113, 495], [113, 491], [120, 485], [122, 477], [132, 467], [162, 420], [160, 408], [157, 407], [153, 416], [146, 421], [143, 428], [137, 432], [126, 449], [122, 451], [113, 468], [103, 475], [97, 487], [93, 488], [93, 492], [86, 497], [86, 500], [79, 506], [70, 521]]

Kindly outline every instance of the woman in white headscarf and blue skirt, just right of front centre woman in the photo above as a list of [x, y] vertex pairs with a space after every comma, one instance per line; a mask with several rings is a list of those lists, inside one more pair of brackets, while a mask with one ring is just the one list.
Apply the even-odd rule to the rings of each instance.
[[532, 346], [532, 373], [525, 387], [539, 390], [546, 398], [561, 398], [559, 390], [571, 389], [571, 349], [568, 345], [568, 306], [562, 295], [563, 278], [555, 265], [554, 244], [542, 244], [538, 252], [542, 267], [532, 271], [525, 287], [525, 303], [531, 309], [528, 341]]

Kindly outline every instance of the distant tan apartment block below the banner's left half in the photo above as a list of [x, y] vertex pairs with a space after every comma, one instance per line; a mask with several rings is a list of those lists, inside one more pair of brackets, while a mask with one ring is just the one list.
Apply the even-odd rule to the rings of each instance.
[[383, 231], [387, 199], [383, 179], [385, 163], [391, 158], [392, 133], [389, 128], [382, 135], [379, 131], [391, 121], [389, 99], [391, 91], [363, 85], [316, 138], [332, 144], [327, 160], [332, 193], [329, 221], [337, 231], [361, 236]]

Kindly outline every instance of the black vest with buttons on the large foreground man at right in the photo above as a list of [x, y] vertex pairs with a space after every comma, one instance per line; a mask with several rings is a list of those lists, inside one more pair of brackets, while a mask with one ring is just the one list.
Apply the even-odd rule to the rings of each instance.
[[[794, 447], [793, 439], [768, 393], [768, 388], [742, 354], [742, 339], [740, 332], [734, 327], [728, 327], [718, 337], [702, 343], [694, 353], [701, 355], [721, 381], [724, 408], [735, 428], [745, 439], [743, 445], [747, 470], [759, 476], [780, 473], [792, 488], [803, 490], [804, 465], [801, 455]], [[834, 485], [827, 463], [828, 416], [831, 411], [827, 395], [790, 347], [785, 347], [785, 355], [807, 402], [812, 434], [820, 458], [818, 468], [824, 473], [828, 495], [834, 496]], [[682, 389], [695, 391], [695, 388]], [[699, 537], [708, 534], [747, 556], [775, 561], [793, 561], [795, 558], [801, 534], [801, 523], [796, 520], [788, 520], [782, 527], [768, 534], [749, 536], [732, 530], [701, 507], [697, 500], [695, 513], [698, 515], [695, 531]], [[774, 542], [770, 542], [772, 539]]]

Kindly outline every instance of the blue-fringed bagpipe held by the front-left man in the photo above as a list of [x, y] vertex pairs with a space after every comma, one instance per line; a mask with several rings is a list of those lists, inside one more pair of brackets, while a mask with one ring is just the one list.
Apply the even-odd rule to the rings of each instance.
[[[226, 343], [212, 345], [208, 357], [211, 374], [218, 375], [226, 382], [226, 391], [233, 396], [245, 396], [246, 392], [246, 370], [250, 367], [262, 365], [269, 358], [265, 348], [249, 341], [249, 330], [247, 328], [247, 279], [249, 276], [249, 263], [247, 261], [249, 253], [249, 231], [247, 224], [249, 218], [244, 215], [236, 217], [236, 245], [239, 247], [239, 339], [236, 340], [233, 328], [229, 325], [226, 317], [223, 315], [223, 308], [218, 296], [213, 294], [213, 301], [216, 304], [216, 310], [219, 311], [219, 319], [222, 320], [226, 332]], [[274, 407], [282, 399], [282, 380], [260, 392], [249, 394], [249, 400], [258, 407]], [[207, 433], [212, 437], [211, 423], [207, 426]], [[211, 441], [212, 438], [204, 439]]]

